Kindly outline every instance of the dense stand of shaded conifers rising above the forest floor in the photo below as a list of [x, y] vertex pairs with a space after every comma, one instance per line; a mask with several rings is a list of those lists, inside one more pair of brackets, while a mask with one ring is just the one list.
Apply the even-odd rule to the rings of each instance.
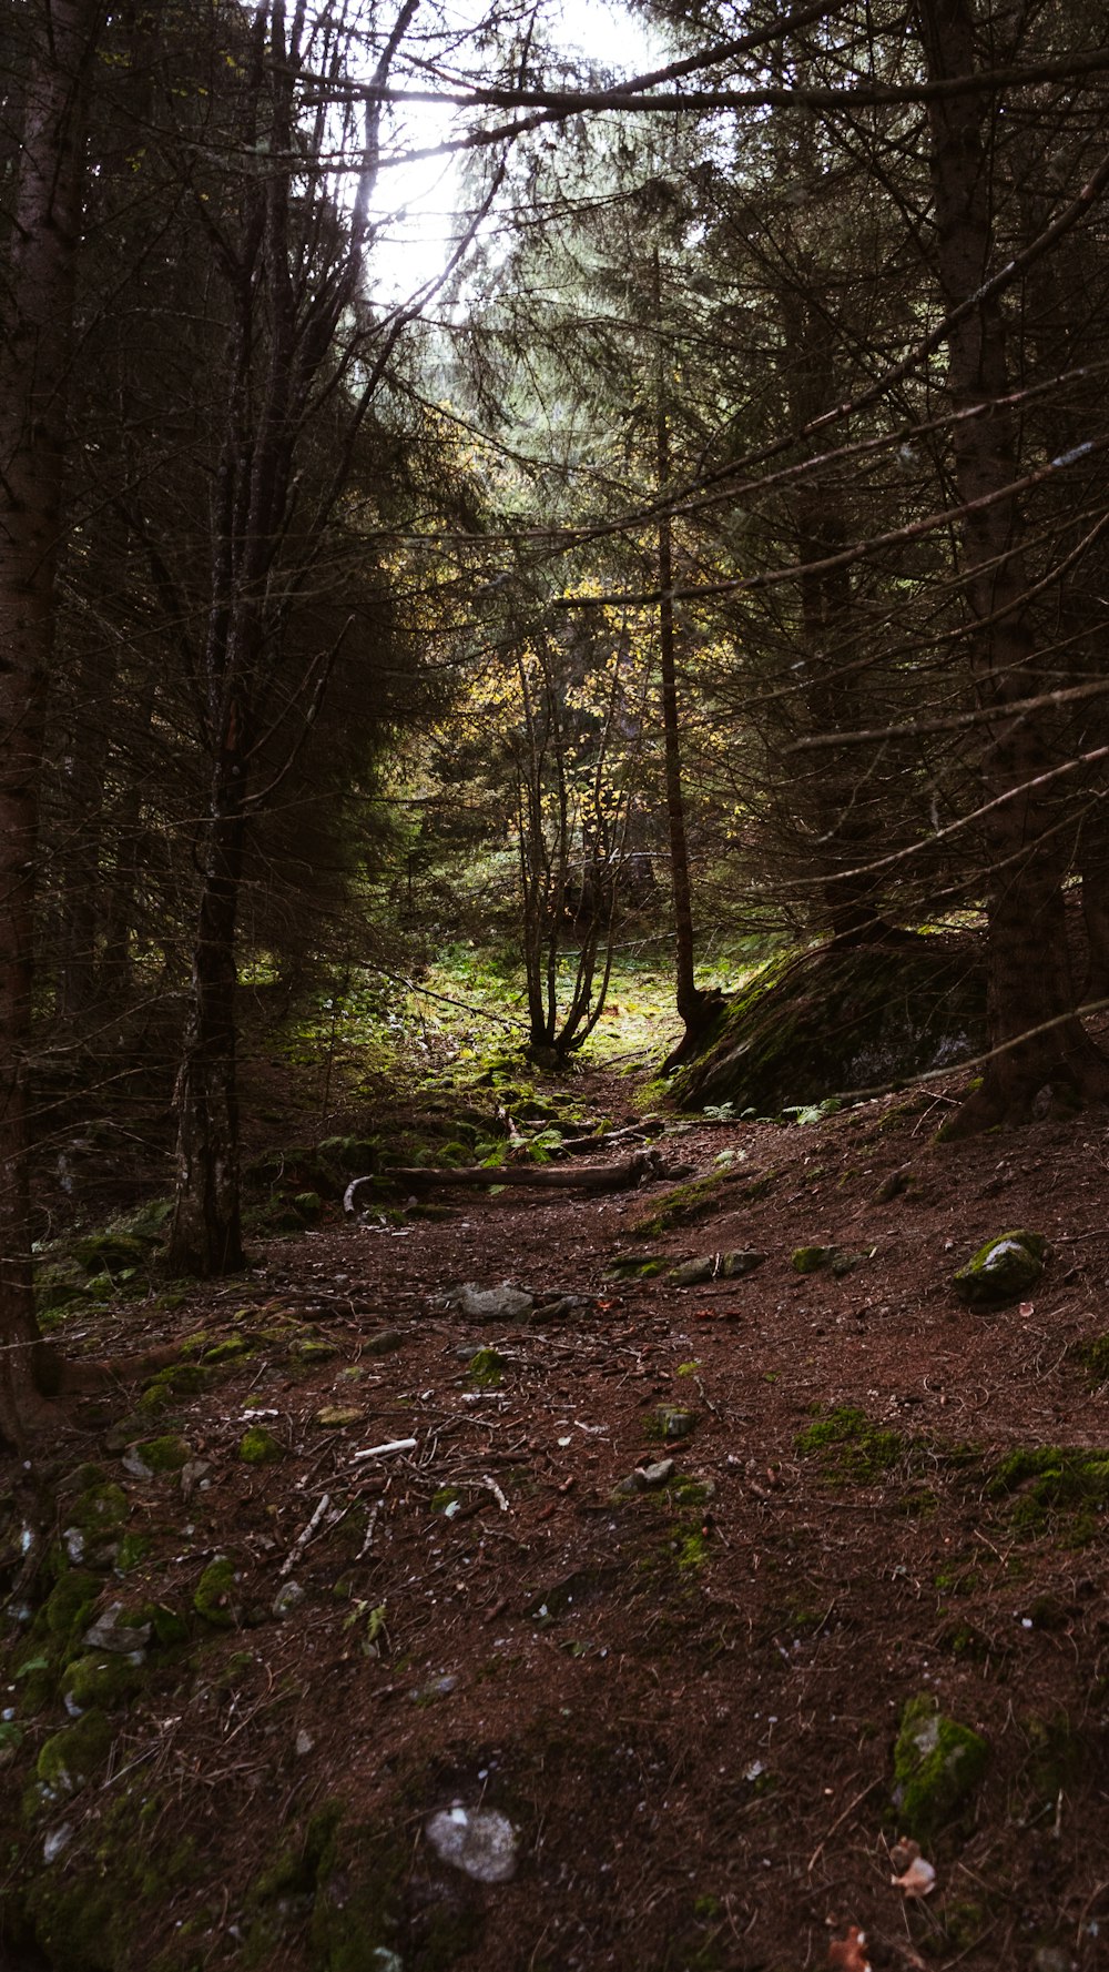
[[449, 941], [563, 1067], [619, 945], [689, 1057], [739, 954], [835, 968], [819, 1039], [928, 935], [989, 990], [955, 1130], [1109, 1091], [1105, 18], [638, 14], [634, 79], [544, 6], [8, 14], [10, 1442], [73, 1114], [160, 1094], [169, 1266], [234, 1270], [244, 1020], [388, 1021]]

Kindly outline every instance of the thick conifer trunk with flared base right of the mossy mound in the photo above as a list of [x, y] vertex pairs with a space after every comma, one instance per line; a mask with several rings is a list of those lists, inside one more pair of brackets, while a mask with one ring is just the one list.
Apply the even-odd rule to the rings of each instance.
[[[969, 0], [922, 0], [922, 41], [932, 81], [975, 69]], [[993, 714], [983, 755], [989, 919], [991, 1061], [981, 1089], [955, 1120], [957, 1134], [1018, 1122], [1046, 1085], [1079, 1096], [1109, 1094], [1109, 1063], [1074, 1018], [1064, 923], [1066, 832], [1052, 785], [1036, 779], [1054, 763], [1048, 712], [1012, 716], [1012, 700], [1034, 696], [1040, 676], [1028, 621], [1020, 552], [1005, 321], [997, 296], [969, 304], [989, 278], [993, 250], [991, 160], [983, 120], [991, 99], [938, 95], [928, 105], [936, 195], [938, 268], [944, 302], [957, 314], [947, 337], [955, 412], [985, 404], [953, 428], [961, 521], [963, 594], [981, 623], [971, 651], [979, 704]], [[1001, 495], [1001, 497], [999, 497]], [[989, 501], [989, 505], [971, 505]]]

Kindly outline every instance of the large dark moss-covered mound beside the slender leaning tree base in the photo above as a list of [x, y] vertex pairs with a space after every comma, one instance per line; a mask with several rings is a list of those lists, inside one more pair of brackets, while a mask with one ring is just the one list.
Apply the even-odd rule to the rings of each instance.
[[670, 1091], [737, 1114], [900, 1083], [985, 1043], [985, 970], [971, 939], [900, 937], [774, 958], [727, 1000]]

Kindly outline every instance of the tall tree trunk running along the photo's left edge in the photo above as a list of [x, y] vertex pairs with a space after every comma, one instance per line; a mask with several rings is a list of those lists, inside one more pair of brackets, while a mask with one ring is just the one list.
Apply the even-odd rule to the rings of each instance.
[[[0, 333], [0, 1438], [37, 1422], [30, 1238], [32, 937], [83, 108], [98, 0], [35, 8]], [[49, 16], [49, 18], [47, 18]]]

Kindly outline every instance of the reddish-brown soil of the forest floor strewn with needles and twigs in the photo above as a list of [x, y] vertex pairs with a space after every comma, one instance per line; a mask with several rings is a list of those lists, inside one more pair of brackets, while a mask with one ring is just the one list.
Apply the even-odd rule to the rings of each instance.
[[[89, 1327], [95, 1355], [197, 1327], [209, 1341], [266, 1331], [173, 1408], [207, 1463], [187, 1503], [175, 1477], [134, 1477], [104, 1449], [102, 1410], [79, 1414], [63, 1459], [97, 1459], [126, 1489], [128, 1528], [152, 1538], [104, 1603], [150, 1593], [189, 1609], [227, 1554], [240, 1627], [191, 1617], [187, 1653], [150, 1658], [114, 1714], [106, 1775], [47, 1804], [30, 1834], [8, 1830], [12, 1885], [41, 1879], [57, 1822], [73, 1838], [53, 1869], [87, 1867], [130, 1773], [154, 1802], [158, 1854], [191, 1842], [191, 1862], [144, 1909], [142, 1940], [89, 1960], [112, 1972], [158, 1952], [213, 1972], [1109, 1966], [1109, 1493], [1036, 1509], [1028, 1485], [997, 1491], [1014, 1447], [1105, 1445], [1107, 1400], [1079, 1357], [1109, 1327], [1105, 1124], [938, 1144], [946, 1114], [949, 1098], [930, 1096], [806, 1128], [695, 1124], [668, 1154], [703, 1173], [735, 1152], [737, 1177], [707, 1217], [660, 1236], [634, 1227], [666, 1183], [583, 1201], [459, 1195], [445, 1221], [337, 1219], [272, 1242], [246, 1280], [197, 1290], [173, 1317]], [[1052, 1242], [1040, 1288], [961, 1307], [953, 1268], [1012, 1227]], [[865, 1258], [845, 1278], [800, 1276], [802, 1244]], [[768, 1258], [687, 1290], [613, 1284], [607, 1264], [628, 1246]], [[445, 1303], [457, 1282], [502, 1280], [587, 1300], [518, 1325]], [[297, 1363], [305, 1327], [335, 1353]], [[368, 1353], [384, 1327], [400, 1347]], [[475, 1388], [463, 1345], [496, 1349], [502, 1380]], [[282, 1442], [278, 1463], [238, 1457], [248, 1404]], [[695, 1424], [660, 1445], [666, 1404]], [[323, 1406], [360, 1416], [319, 1424]], [[896, 1436], [806, 1451], [800, 1434], [837, 1406]], [[357, 1459], [404, 1438], [408, 1453]], [[664, 1453], [707, 1495], [615, 1501]], [[24, 1487], [16, 1473], [33, 1518]], [[63, 1528], [65, 1491], [59, 1509], [49, 1499]], [[290, 1580], [303, 1599], [276, 1619]], [[934, 1893], [910, 1903], [890, 1883], [890, 1791], [918, 1694], [981, 1731], [991, 1757], [961, 1818], [926, 1844]], [[20, 1781], [65, 1714], [26, 1724]], [[510, 1818], [512, 1881], [475, 1885], [433, 1856], [427, 1816], [453, 1802]], [[394, 1960], [327, 1942], [357, 1893], [345, 1852], [284, 1897], [260, 1889], [329, 1804], [392, 1844]], [[837, 1954], [851, 1925], [865, 1950]]]

